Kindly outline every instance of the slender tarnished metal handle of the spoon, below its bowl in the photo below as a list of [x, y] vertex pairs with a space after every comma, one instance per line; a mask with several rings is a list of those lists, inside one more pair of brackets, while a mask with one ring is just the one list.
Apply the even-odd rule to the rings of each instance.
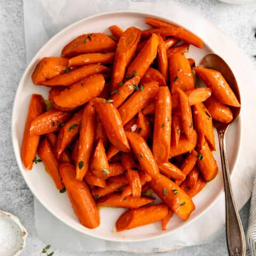
[[230, 174], [226, 151], [226, 131], [218, 130], [220, 142], [220, 156], [226, 199], [226, 235], [229, 255], [245, 256], [245, 237], [241, 219], [231, 189]]

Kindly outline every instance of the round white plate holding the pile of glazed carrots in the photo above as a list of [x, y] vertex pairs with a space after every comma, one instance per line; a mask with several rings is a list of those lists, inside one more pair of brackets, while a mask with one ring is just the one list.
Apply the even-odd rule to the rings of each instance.
[[[137, 12], [112, 12], [94, 15], [78, 21], [62, 30], [60, 33], [52, 37], [30, 62], [28, 68], [21, 78], [13, 105], [12, 138], [14, 153], [17, 158], [20, 171], [30, 190], [47, 210], [49, 210], [53, 215], [55, 215], [55, 217], [66, 223], [68, 226], [81, 231], [84, 234], [111, 241], [138, 242], [157, 238], [169, 234], [174, 230], [185, 227], [185, 225], [199, 218], [203, 212], [207, 211], [223, 191], [222, 173], [219, 171], [217, 178], [209, 182], [203, 191], [194, 198], [196, 210], [191, 214], [189, 220], [184, 222], [177, 216], [174, 216], [172, 221], [170, 221], [169, 225], [167, 226], [166, 231], [162, 231], [161, 223], [157, 222], [151, 225], [123, 231], [122, 233], [117, 233], [115, 231], [115, 221], [123, 210], [109, 207], [104, 207], [100, 210], [101, 225], [98, 228], [91, 230], [83, 227], [77, 220], [71, 208], [67, 193], [60, 194], [59, 191], [55, 189], [54, 183], [51, 180], [51, 177], [45, 172], [43, 164], [39, 163], [34, 165], [32, 171], [26, 170], [22, 165], [20, 157], [21, 143], [30, 95], [32, 93], [38, 93], [47, 98], [47, 92], [49, 91], [49, 89], [47, 89], [45, 86], [34, 86], [31, 81], [31, 74], [33, 73], [33, 70], [39, 60], [45, 56], [60, 55], [62, 47], [78, 35], [102, 31], [109, 33], [107, 28], [116, 23], [122, 28], [136, 26], [141, 29], [145, 29], [147, 28], [147, 25], [145, 25], [144, 21], [145, 18], [149, 16], [161, 19], [161, 17], [152, 14]], [[172, 20], [166, 21], [175, 22]], [[182, 26], [182, 23], [178, 25]], [[198, 36], [200, 35], [198, 34]], [[208, 43], [210, 44], [210, 42]], [[204, 48], [201, 50], [194, 46], [190, 46], [188, 56], [194, 58], [197, 63], [206, 53], [209, 52], [214, 52], [214, 49], [210, 49], [210, 47], [207, 46], [207, 42], [205, 42]], [[231, 173], [233, 173], [239, 151], [241, 127], [241, 119], [239, 119], [236, 124], [230, 127], [227, 136], [228, 159]], [[216, 143], [218, 147], [218, 141], [216, 141]], [[220, 168], [219, 151], [216, 151], [214, 156], [217, 158]]]

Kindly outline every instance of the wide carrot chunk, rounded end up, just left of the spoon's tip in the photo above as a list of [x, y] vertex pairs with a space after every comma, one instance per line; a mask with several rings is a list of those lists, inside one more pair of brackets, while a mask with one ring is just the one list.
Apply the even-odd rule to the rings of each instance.
[[187, 91], [195, 88], [194, 76], [187, 58], [181, 53], [172, 54], [169, 58], [171, 93], [177, 89]]

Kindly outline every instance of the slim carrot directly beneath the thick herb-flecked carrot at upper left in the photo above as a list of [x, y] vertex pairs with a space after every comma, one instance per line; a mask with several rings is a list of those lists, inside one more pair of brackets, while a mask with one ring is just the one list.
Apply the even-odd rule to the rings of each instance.
[[114, 52], [85, 53], [69, 59], [68, 66], [76, 67], [76, 66], [84, 66], [87, 64], [95, 64], [95, 63], [109, 64], [109, 63], [113, 63], [114, 59], [115, 59]]

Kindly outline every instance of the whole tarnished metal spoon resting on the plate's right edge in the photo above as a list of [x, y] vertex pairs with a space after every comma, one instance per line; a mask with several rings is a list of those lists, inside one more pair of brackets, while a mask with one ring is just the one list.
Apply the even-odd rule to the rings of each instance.
[[[217, 54], [209, 53], [199, 63], [199, 66], [204, 68], [211, 68], [218, 70], [222, 76], [226, 79], [231, 89], [236, 94], [236, 97], [241, 103], [241, 97], [236, 82], [236, 78], [227, 65]], [[237, 210], [237, 206], [234, 200], [233, 191], [231, 189], [230, 174], [227, 161], [227, 150], [226, 150], [226, 132], [231, 123], [235, 122], [239, 117], [241, 107], [230, 107], [233, 112], [233, 120], [229, 124], [224, 124], [214, 121], [214, 126], [217, 129], [220, 145], [220, 156], [222, 173], [225, 188], [225, 199], [226, 199], [226, 234], [227, 234], [227, 245], [229, 255], [232, 256], [244, 256], [245, 255], [245, 237], [241, 219]]]

